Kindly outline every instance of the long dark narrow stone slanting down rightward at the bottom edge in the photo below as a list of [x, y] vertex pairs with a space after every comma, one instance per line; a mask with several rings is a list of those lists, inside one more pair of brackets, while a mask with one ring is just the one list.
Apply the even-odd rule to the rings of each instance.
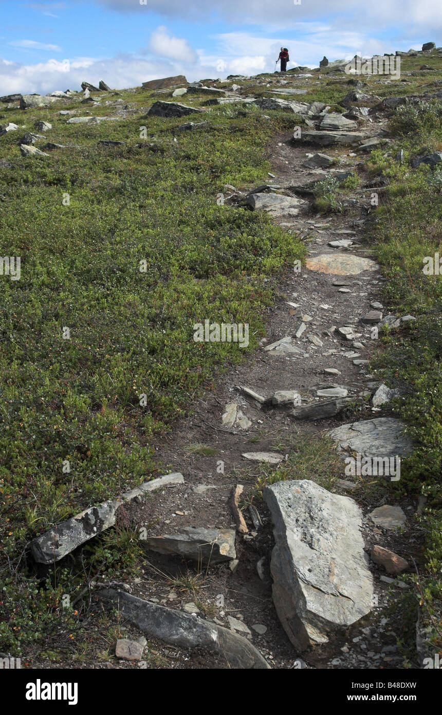
[[190, 613], [143, 601], [113, 588], [106, 588], [100, 591], [99, 595], [106, 601], [116, 603], [121, 616], [134, 623], [146, 636], [159, 638], [179, 648], [206, 648], [225, 658], [231, 668], [270, 668], [246, 638], [238, 636], [228, 628], [205, 621], [204, 618], [196, 618]]

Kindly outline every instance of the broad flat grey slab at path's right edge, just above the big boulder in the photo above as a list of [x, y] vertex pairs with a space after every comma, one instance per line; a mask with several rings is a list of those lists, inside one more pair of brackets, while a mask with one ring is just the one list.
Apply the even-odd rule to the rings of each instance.
[[413, 449], [412, 440], [403, 434], [405, 424], [393, 417], [359, 420], [330, 430], [328, 437], [344, 453], [361, 457], [406, 457]]

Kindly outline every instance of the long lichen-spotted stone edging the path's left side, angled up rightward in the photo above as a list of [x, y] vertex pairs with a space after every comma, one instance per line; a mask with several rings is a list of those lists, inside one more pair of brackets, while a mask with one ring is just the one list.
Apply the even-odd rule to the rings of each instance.
[[99, 506], [91, 506], [31, 541], [32, 556], [38, 563], [59, 561], [60, 558], [74, 551], [82, 543], [114, 526], [116, 511], [121, 504], [130, 502], [134, 498], [144, 498], [146, 493], [164, 486], [183, 483], [183, 475], [174, 472], [150, 482], [144, 482], [139, 487], [125, 492], [119, 499], [103, 502]]

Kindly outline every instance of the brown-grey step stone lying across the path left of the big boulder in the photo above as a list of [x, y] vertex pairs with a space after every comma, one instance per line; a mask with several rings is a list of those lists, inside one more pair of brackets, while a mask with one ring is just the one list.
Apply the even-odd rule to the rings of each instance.
[[141, 540], [148, 551], [184, 556], [199, 563], [214, 564], [236, 558], [233, 529], [205, 529], [185, 526], [174, 535], [149, 536]]

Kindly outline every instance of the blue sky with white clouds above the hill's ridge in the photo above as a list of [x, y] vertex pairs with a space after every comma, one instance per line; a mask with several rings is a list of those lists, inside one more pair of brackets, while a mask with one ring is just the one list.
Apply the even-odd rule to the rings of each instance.
[[442, 45], [441, 0], [0, 0], [0, 95], [192, 82]]

